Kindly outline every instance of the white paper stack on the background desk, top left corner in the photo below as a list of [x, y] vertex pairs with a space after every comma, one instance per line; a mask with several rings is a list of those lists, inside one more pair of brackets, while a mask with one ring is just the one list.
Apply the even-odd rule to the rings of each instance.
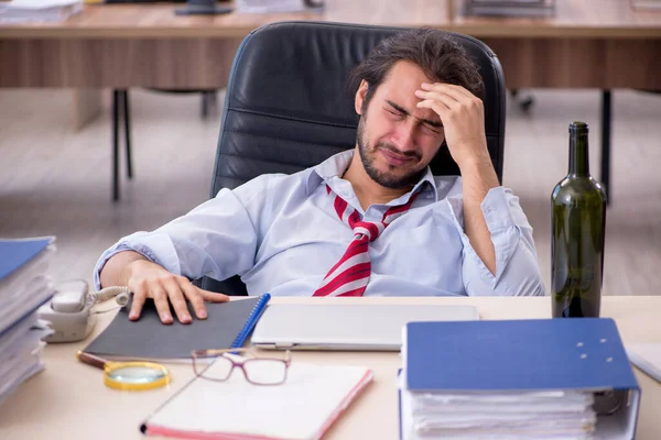
[[0, 3], [0, 23], [64, 21], [83, 6], [83, 0], [12, 0]]

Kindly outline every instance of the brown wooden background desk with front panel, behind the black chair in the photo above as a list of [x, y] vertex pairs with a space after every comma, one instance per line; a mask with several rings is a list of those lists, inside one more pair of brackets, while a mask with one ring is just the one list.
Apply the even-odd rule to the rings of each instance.
[[[0, 24], [0, 87], [218, 89], [253, 29], [284, 20], [431, 26], [473, 35], [498, 55], [508, 89], [604, 92], [602, 179], [608, 186], [610, 89], [661, 90], [661, 11], [628, 0], [557, 0], [551, 19], [460, 15], [460, 0], [326, 0], [322, 13], [178, 16], [174, 4], [87, 6], [62, 23]], [[451, 12], [456, 11], [456, 12]], [[99, 92], [78, 94], [77, 125]]]

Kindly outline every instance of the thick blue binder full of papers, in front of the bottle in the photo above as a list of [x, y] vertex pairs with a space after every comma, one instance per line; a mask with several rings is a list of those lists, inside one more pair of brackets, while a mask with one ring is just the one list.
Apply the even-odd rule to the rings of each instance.
[[633, 438], [640, 389], [611, 319], [411, 322], [402, 359], [405, 440]]

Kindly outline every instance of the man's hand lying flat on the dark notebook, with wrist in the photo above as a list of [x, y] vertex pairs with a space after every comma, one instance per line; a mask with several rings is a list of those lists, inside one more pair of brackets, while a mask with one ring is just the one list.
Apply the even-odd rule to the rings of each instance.
[[113, 255], [101, 271], [104, 286], [126, 285], [133, 293], [133, 304], [129, 319], [140, 318], [147, 298], [153, 298], [154, 306], [163, 323], [172, 323], [170, 304], [182, 323], [191, 323], [186, 299], [193, 305], [198, 319], [206, 319], [204, 301], [229, 301], [227, 295], [201, 289], [185, 276], [174, 275], [152, 263], [138, 252], [127, 251]]

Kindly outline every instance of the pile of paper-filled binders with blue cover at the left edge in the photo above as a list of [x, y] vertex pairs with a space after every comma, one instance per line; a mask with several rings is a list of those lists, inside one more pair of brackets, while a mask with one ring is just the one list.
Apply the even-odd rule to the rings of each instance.
[[52, 330], [36, 310], [54, 294], [54, 238], [0, 240], [0, 402], [43, 370], [42, 339]]

